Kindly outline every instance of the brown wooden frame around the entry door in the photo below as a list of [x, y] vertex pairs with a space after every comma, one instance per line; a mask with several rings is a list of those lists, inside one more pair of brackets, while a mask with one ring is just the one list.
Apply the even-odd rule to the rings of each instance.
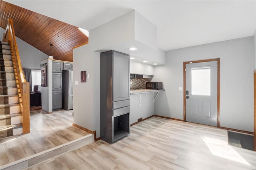
[[[217, 127], [220, 127], [220, 58], [183, 62], [183, 121], [186, 121], [186, 64], [217, 61]], [[255, 117], [254, 117], [255, 118]]]

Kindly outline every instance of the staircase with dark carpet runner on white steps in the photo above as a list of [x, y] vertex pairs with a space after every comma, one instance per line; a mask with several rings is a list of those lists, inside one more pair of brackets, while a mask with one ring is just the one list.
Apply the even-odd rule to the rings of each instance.
[[0, 138], [22, 134], [22, 115], [10, 46], [0, 42]]

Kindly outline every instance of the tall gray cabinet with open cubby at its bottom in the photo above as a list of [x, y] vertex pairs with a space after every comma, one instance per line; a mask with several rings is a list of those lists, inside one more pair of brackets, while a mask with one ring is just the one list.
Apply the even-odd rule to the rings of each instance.
[[130, 56], [100, 53], [100, 138], [112, 143], [130, 134]]

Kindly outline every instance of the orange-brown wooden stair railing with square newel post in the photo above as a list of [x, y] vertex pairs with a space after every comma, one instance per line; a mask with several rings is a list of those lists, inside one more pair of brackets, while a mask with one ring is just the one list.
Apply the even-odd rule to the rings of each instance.
[[29, 82], [26, 82], [22, 71], [22, 65], [20, 62], [20, 55], [16, 42], [12, 19], [8, 19], [8, 24], [6, 27], [6, 32], [4, 33], [3, 41], [8, 42], [10, 45], [12, 63], [20, 102], [20, 112], [22, 113], [22, 131], [23, 134], [26, 134], [30, 132], [30, 85]]

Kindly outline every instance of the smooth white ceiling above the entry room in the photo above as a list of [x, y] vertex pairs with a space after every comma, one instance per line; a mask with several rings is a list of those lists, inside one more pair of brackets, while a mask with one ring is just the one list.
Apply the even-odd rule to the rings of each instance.
[[165, 51], [252, 36], [256, 0], [5, 0], [91, 30], [135, 9], [157, 26]]

